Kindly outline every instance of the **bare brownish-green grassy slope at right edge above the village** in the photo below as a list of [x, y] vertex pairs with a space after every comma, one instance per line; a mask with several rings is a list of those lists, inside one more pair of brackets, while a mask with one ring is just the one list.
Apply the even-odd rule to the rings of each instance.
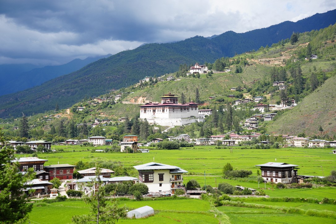
[[319, 133], [320, 125], [330, 136], [336, 134], [336, 76], [305, 97], [296, 107], [284, 113], [267, 126], [274, 134], [306, 135]]

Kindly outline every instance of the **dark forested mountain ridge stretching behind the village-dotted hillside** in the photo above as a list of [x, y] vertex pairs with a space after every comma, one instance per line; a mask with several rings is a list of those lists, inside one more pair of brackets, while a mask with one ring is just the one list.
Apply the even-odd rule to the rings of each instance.
[[0, 117], [17, 117], [61, 108], [89, 96], [126, 87], [144, 76], [174, 72], [180, 64], [213, 62], [261, 45], [289, 38], [293, 32], [320, 29], [336, 22], [336, 10], [316, 14], [296, 23], [285, 22], [269, 28], [236, 34], [226, 32], [212, 39], [193, 37], [167, 44], [146, 44], [134, 50], [100, 59], [68, 75], [58, 77], [32, 89], [0, 97]]

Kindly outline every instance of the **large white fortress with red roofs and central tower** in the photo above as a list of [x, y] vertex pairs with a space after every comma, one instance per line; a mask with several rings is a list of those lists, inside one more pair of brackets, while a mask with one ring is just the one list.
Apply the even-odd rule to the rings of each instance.
[[140, 119], [162, 126], [182, 126], [203, 121], [204, 115], [199, 114], [197, 103], [190, 101], [179, 104], [178, 98], [175, 94], [167, 93], [161, 97], [161, 103], [149, 102], [141, 105]]

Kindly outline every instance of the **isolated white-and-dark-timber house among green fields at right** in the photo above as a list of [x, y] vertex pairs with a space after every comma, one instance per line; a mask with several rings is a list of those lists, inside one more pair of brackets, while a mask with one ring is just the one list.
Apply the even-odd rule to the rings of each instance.
[[261, 177], [264, 181], [283, 184], [294, 183], [296, 181], [297, 169], [299, 169], [297, 168], [298, 165], [273, 162], [255, 166], [260, 167]]

